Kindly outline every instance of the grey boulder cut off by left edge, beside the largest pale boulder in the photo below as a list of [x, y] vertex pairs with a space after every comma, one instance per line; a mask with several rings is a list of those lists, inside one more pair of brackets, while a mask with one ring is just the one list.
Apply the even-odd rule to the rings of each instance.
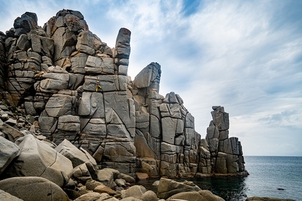
[[10, 162], [19, 153], [18, 145], [13, 142], [0, 137], [0, 174], [4, 172], [4, 169], [10, 164]]

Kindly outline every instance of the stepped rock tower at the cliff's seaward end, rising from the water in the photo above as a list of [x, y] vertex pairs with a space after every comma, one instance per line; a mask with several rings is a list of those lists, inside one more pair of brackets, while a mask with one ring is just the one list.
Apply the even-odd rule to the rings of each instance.
[[206, 139], [199, 145], [199, 172], [247, 176], [242, 146], [237, 137], [229, 138], [229, 115], [223, 106], [213, 106]]

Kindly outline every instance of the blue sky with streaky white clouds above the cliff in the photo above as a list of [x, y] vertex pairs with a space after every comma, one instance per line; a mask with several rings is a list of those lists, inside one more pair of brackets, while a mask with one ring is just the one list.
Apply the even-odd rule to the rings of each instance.
[[128, 74], [162, 67], [159, 94], [176, 92], [206, 136], [211, 107], [224, 106], [244, 155], [302, 156], [302, 1], [0, 0], [0, 31], [37, 13], [80, 11], [113, 48], [131, 30]]

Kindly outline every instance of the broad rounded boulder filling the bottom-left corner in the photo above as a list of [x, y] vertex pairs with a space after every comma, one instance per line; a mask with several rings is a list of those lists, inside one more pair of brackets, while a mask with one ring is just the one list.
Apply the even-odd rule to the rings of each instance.
[[0, 181], [0, 189], [24, 201], [70, 201], [55, 183], [37, 176], [13, 177]]

